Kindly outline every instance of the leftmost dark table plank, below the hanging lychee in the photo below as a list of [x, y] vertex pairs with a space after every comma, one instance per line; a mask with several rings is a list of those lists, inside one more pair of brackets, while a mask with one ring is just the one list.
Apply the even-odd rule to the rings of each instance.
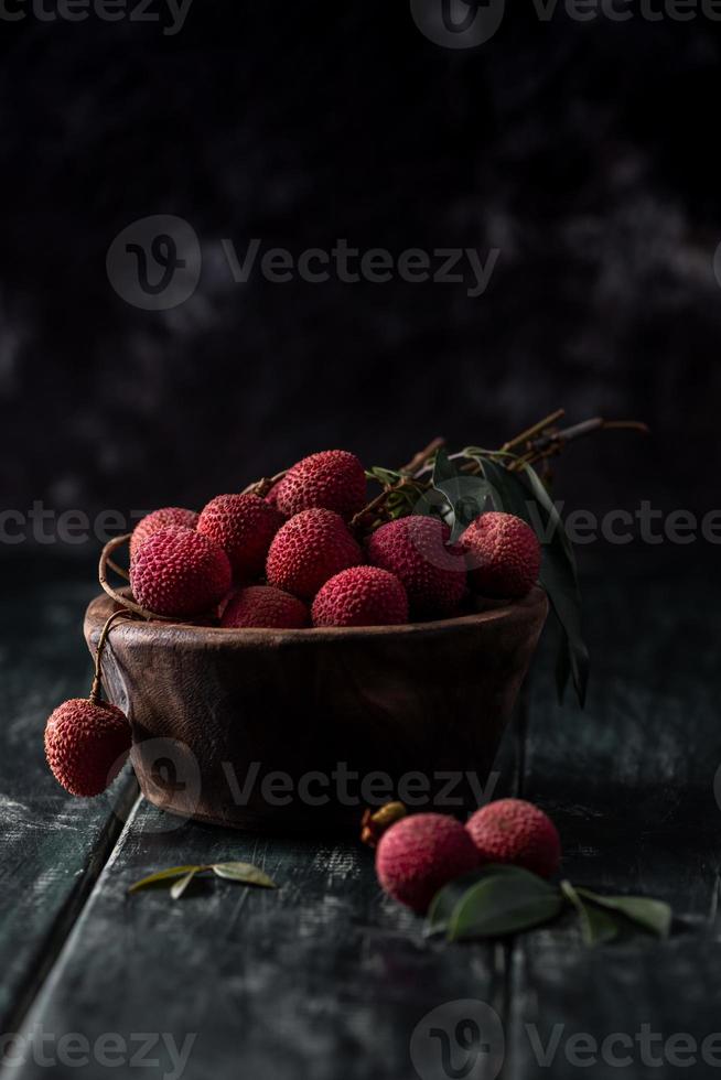
[[[20, 1024], [120, 825], [108, 798], [73, 799], [45, 764], [47, 714], [87, 694], [83, 614], [92, 576], [52, 557], [6, 558], [0, 639], [0, 1030]], [[120, 779], [118, 795], [128, 778]], [[134, 788], [134, 781], [130, 781]], [[120, 808], [123, 806], [120, 799]]]

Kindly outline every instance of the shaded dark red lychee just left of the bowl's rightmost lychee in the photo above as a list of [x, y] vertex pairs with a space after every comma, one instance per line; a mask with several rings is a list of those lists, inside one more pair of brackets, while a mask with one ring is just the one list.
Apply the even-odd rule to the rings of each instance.
[[415, 515], [381, 525], [368, 537], [368, 562], [400, 580], [416, 616], [448, 616], [461, 603], [465, 560], [449, 544], [450, 536], [440, 518]]

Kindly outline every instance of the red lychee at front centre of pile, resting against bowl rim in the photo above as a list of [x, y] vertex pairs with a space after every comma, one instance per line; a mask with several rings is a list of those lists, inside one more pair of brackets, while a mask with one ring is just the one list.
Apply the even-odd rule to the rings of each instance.
[[395, 574], [352, 566], [326, 581], [313, 601], [313, 626], [398, 626], [408, 622], [408, 596]]

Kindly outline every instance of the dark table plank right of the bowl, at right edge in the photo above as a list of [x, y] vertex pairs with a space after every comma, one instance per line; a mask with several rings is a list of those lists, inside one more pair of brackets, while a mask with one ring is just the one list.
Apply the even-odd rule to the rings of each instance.
[[[700, 577], [667, 577], [615, 590], [599, 584], [587, 594], [595, 660], [590, 703], [585, 713], [570, 704], [558, 710], [550, 684], [541, 687], [524, 792], [558, 820], [569, 878], [666, 899], [688, 927], [665, 943], [641, 936], [594, 950], [572, 929], [517, 942], [507, 1074], [636, 1080], [682, 1068], [708, 1077], [721, 1066], [721, 1037], [703, 1049], [721, 1030], [714, 798], [721, 678], [704, 613], [718, 608], [721, 591]], [[583, 1041], [579, 1052], [580, 1044], [569, 1041], [578, 1033], [595, 1049]], [[618, 1040], [604, 1050], [612, 1034]], [[676, 1045], [667, 1041], [676, 1036]], [[552, 1051], [546, 1067], [539, 1046]]]

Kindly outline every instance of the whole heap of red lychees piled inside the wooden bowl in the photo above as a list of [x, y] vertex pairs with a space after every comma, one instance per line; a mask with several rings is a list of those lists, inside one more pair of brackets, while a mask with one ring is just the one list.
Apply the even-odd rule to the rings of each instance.
[[144, 517], [130, 542], [136, 602], [164, 618], [223, 627], [394, 626], [464, 613], [472, 594], [520, 597], [540, 546], [509, 514], [486, 512], [451, 543], [438, 516], [354, 525], [366, 473], [347, 451], [313, 454], [268, 494], [218, 495], [198, 514]]

